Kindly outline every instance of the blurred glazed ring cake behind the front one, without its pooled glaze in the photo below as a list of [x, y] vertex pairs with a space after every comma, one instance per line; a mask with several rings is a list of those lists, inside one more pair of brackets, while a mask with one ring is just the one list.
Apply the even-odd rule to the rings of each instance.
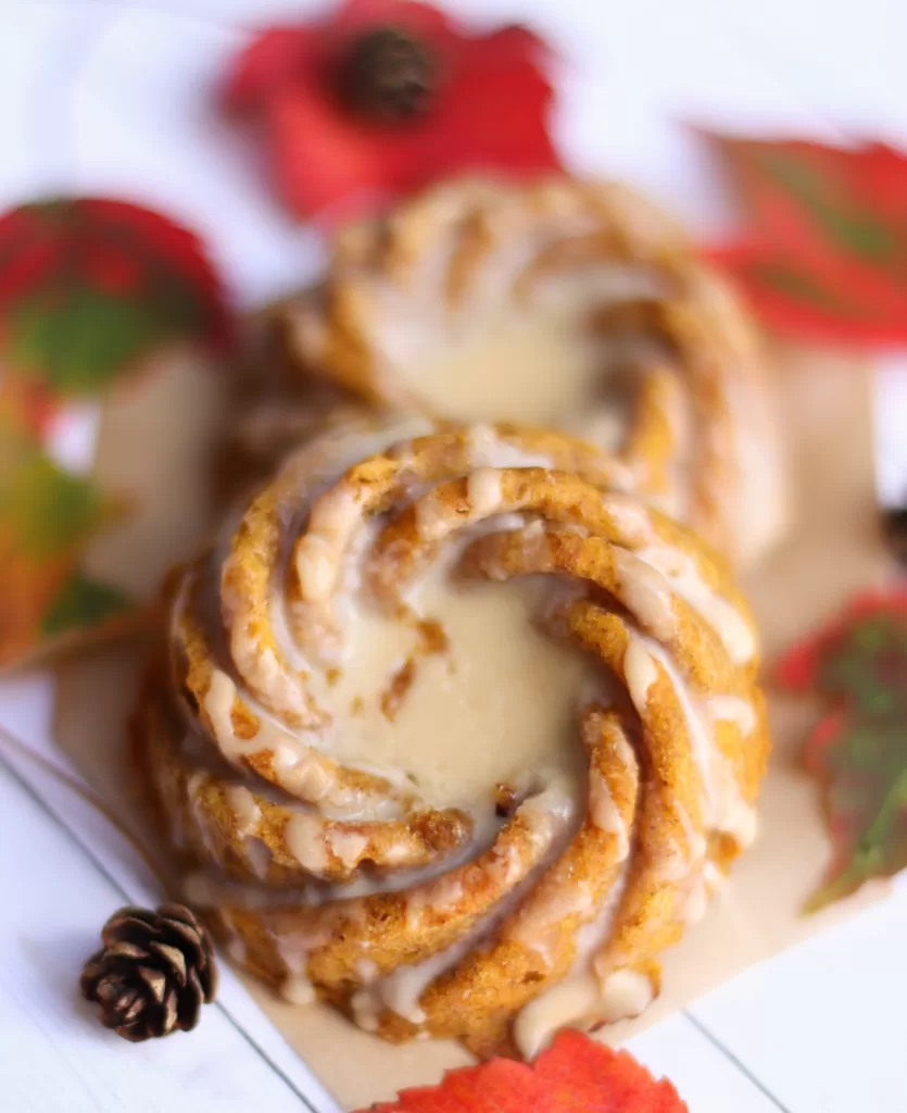
[[602, 374], [578, 413], [542, 424], [618, 452], [651, 504], [732, 562], [755, 560], [787, 521], [755, 337], [683, 232], [627, 187], [562, 177], [442, 185], [343, 229], [323, 286], [292, 303], [285, 323], [302, 374], [372, 404], [431, 412], [420, 392], [440, 351], [503, 313], [564, 305], [600, 346]]

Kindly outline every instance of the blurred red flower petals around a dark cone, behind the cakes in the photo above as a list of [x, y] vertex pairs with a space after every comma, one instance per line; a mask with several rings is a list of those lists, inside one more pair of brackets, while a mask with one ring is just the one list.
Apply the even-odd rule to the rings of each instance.
[[[344, 96], [356, 48], [388, 30], [431, 66], [431, 92], [408, 118], [369, 115]], [[524, 28], [469, 35], [425, 3], [345, 0], [321, 22], [260, 33], [234, 61], [223, 95], [231, 111], [262, 120], [289, 207], [305, 217], [329, 207], [336, 219], [461, 171], [556, 169], [544, 53]]]

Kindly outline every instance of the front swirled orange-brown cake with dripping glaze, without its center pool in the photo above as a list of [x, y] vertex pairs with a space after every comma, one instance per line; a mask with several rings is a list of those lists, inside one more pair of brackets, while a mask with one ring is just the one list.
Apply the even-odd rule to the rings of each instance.
[[[722, 559], [628, 494], [624, 464], [562, 434], [408, 425], [309, 443], [174, 579], [142, 767], [186, 898], [288, 999], [531, 1057], [563, 1024], [641, 1012], [755, 836], [756, 633]], [[352, 595], [435, 651], [407, 599], [445, 559], [494, 590], [542, 582], [546, 633], [603, 678], [563, 739], [582, 776], [530, 769], [491, 815], [331, 754]]]

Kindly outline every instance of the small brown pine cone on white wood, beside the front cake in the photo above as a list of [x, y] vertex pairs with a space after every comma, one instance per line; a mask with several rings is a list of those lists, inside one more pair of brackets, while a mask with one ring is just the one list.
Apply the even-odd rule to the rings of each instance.
[[208, 933], [188, 908], [120, 908], [101, 939], [79, 986], [100, 1006], [105, 1027], [139, 1043], [196, 1026], [203, 1003], [214, 1001], [217, 965]]

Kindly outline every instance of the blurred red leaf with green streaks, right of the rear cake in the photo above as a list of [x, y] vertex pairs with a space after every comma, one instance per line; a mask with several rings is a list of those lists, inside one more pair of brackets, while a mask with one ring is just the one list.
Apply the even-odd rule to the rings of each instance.
[[769, 326], [810, 339], [907, 338], [907, 158], [889, 147], [710, 137], [743, 206], [713, 253]]

